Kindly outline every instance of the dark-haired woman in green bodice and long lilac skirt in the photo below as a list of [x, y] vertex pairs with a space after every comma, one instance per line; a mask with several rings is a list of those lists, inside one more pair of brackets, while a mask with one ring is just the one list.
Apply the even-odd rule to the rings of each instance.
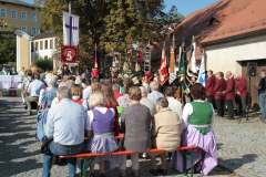
[[[213, 131], [215, 112], [213, 105], [205, 102], [206, 92], [201, 83], [191, 87], [193, 102], [187, 103], [183, 110], [182, 145], [200, 147], [194, 152], [194, 167], [186, 163], [186, 167], [194, 168], [194, 171], [207, 175], [217, 165], [217, 147]], [[180, 152], [173, 155], [173, 166], [178, 171], [183, 171], [183, 158]]]

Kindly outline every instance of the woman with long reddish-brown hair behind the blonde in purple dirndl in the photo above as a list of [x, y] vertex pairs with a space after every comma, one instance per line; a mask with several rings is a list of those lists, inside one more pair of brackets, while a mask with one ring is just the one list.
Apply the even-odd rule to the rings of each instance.
[[105, 98], [105, 107], [108, 108], [113, 108], [115, 116], [114, 116], [114, 123], [113, 123], [113, 132], [115, 136], [119, 136], [120, 133], [120, 125], [119, 125], [119, 112], [116, 106], [119, 105], [119, 103], [116, 102], [115, 97], [114, 97], [114, 93], [113, 93], [113, 88], [112, 85], [103, 85], [102, 86], [102, 93], [104, 95]]

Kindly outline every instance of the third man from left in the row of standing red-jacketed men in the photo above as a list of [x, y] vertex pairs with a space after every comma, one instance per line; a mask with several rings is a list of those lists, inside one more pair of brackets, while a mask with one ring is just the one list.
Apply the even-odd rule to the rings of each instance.
[[234, 118], [233, 101], [235, 100], [235, 79], [231, 71], [226, 72], [226, 77], [228, 79], [228, 82], [226, 85], [226, 91], [224, 91], [224, 95], [226, 98], [227, 110], [228, 110], [228, 114], [229, 114], [227, 119], [233, 119]]

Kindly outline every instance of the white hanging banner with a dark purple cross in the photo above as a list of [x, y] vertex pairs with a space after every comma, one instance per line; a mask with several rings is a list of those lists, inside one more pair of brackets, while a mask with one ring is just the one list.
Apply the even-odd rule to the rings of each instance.
[[79, 44], [80, 17], [63, 11], [63, 42], [64, 45]]

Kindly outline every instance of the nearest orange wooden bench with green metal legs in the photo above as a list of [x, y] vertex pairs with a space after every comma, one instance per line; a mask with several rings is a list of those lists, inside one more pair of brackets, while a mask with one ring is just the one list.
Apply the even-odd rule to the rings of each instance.
[[[115, 136], [115, 138], [123, 138], [123, 136]], [[194, 159], [194, 152], [196, 152], [198, 149], [198, 147], [190, 147], [190, 146], [181, 146], [178, 147], [177, 150], [181, 152], [182, 156], [183, 156], [183, 175], [187, 176], [186, 173], [186, 159], [188, 159], [191, 162], [191, 177], [193, 177], [193, 159]], [[191, 153], [188, 154], [187, 150], [191, 150]], [[93, 162], [93, 159], [96, 156], [106, 156], [106, 155], [127, 155], [127, 154], [141, 154], [141, 153], [158, 153], [158, 152], [165, 152], [164, 149], [160, 149], [160, 148], [152, 148], [150, 152], [127, 152], [125, 149], [121, 149], [120, 152], [114, 152], [114, 153], [110, 153], [110, 154], [96, 154], [96, 153], [90, 153], [90, 152], [83, 152], [81, 154], [76, 154], [76, 155], [68, 155], [68, 156], [59, 156], [60, 158], [79, 158], [81, 160], [81, 173], [80, 173], [80, 177], [86, 177], [86, 167], [88, 167], [88, 158], [90, 157], [90, 162]], [[90, 164], [89, 164], [90, 166]]]

